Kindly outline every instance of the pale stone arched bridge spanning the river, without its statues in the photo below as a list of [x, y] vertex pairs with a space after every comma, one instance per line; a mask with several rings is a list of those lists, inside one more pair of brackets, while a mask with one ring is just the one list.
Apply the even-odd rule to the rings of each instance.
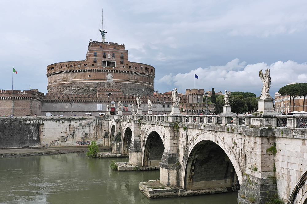
[[[238, 203], [307, 203], [307, 117], [106, 116], [112, 151], [160, 166], [177, 196], [239, 189]], [[153, 197], [159, 197], [159, 193]]]

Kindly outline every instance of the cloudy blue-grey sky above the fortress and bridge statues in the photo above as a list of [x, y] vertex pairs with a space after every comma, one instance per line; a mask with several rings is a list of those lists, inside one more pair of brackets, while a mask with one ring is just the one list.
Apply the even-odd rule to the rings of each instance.
[[[89, 40], [125, 44], [130, 62], [155, 67], [154, 88], [185, 93], [307, 83], [307, 1], [0, 0], [0, 89], [47, 93], [46, 67], [84, 60]], [[194, 74], [198, 79], [194, 78]]]

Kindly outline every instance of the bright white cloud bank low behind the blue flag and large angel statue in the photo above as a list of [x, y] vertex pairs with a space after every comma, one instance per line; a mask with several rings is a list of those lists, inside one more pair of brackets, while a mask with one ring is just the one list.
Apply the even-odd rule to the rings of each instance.
[[225, 89], [231, 91], [252, 92], [260, 95], [262, 89], [262, 81], [259, 78], [259, 71], [270, 69], [272, 79], [270, 94], [274, 96], [282, 86], [287, 83], [296, 81], [305, 83], [307, 80], [307, 64], [297, 63], [291, 60], [287, 62], [278, 61], [267, 65], [264, 62], [256, 64], [248, 64], [239, 62], [234, 59], [227, 62], [224, 66], [209, 66], [207, 68], [198, 68], [188, 73], [169, 74], [161, 77], [156, 81], [157, 86], [163, 84], [173, 85], [181, 92], [185, 89], [194, 88], [194, 73], [198, 76], [195, 79], [195, 86], [198, 89], [223, 91]]

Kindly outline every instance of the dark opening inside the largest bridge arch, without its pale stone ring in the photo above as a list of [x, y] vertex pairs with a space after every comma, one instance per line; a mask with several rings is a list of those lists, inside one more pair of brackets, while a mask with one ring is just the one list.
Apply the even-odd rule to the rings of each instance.
[[215, 142], [203, 140], [197, 143], [185, 167], [186, 190], [215, 189], [218, 192], [240, 189], [235, 168], [224, 150]]

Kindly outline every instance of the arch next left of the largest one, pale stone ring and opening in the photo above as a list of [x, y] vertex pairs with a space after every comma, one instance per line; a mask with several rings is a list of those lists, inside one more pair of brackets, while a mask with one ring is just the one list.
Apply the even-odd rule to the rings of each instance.
[[142, 166], [159, 166], [164, 150], [165, 139], [161, 135], [161, 130], [155, 126], [150, 126], [143, 141]]

